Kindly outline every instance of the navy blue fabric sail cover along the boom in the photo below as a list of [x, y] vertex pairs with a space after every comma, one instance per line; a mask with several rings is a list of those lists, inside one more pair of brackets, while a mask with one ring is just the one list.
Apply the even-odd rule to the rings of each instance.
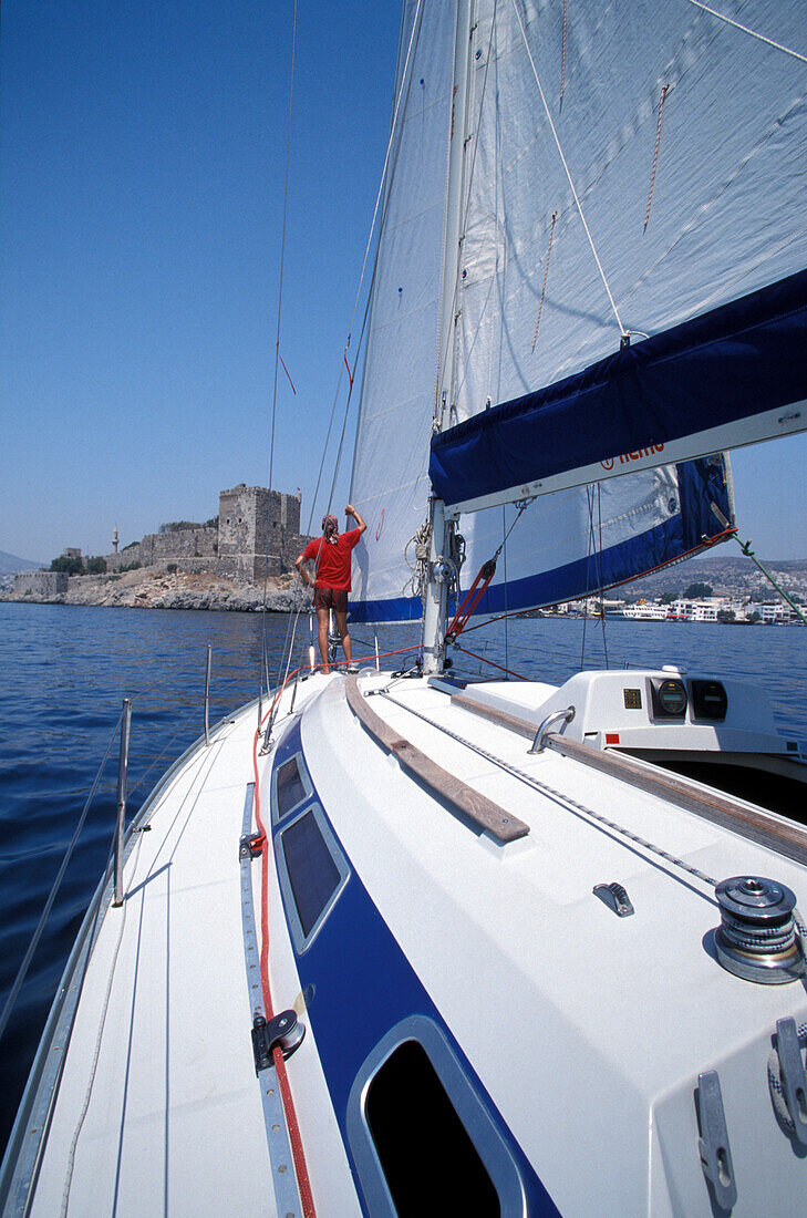
[[[436, 435], [430, 476], [447, 505], [508, 491], [519, 498], [531, 484], [596, 463], [600, 476], [617, 474], [626, 457], [654, 460], [672, 441], [711, 429], [723, 429], [721, 447], [735, 447], [749, 442], [747, 420], [805, 400], [807, 270]], [[772, 428], [783, 423], [802, 430], [807, 412]]]

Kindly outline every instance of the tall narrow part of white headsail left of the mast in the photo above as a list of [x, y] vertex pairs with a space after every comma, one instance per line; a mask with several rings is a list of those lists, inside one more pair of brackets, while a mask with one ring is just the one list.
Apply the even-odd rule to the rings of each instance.
[[[404, 6], [398, 123], [351, 487], [351, 502], [368, 521], [354, 552], [357, 602], [400, 598], [407, 592], [411, 600], [404, 555], [428, 508], [453, 43], [452, 5], [424, 10], [410, 0]], [[411, 604], [420, 616], [420, 603]]]

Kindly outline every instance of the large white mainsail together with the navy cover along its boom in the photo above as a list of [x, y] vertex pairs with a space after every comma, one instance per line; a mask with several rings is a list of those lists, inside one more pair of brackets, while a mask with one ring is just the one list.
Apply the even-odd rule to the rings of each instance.
[[[508, 404], [500, 442], [492, 417], [476, 432], [493, 445], [467, 426], [458, 445], [512, 477], [459, 486], [441, 456], [454, 510], [807, 425], [803, 17], [781, 0], [717, 9], [484, 6], [445, 423]], [[510, 425], [525, 396], [526, 432]], [[534, 460], [510, 462], [525, 449]]]

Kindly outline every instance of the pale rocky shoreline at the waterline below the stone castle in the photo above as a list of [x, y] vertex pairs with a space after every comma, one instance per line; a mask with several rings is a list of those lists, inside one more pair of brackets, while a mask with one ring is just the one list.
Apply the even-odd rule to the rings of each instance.
[[[265, 588], [265, 608], [270, 613], [288, 613], [295, 604], [296, 580], [292, 575], [270, 579]], [[298, 598], [306, 596], [302, 590]], [[217, 575], [190, 574], [164, 568], [142, 568], [121, 575], [71, 576], [67, 592], [45, 597], [32, 593], [0, 593], [0, 600], [17, 604], [102, 605], [110, 609], [219, 609], [259, 613], [264, 608], [263, 583], [239, 583]], [[298, 602], [299, 603], [299, 602]]]

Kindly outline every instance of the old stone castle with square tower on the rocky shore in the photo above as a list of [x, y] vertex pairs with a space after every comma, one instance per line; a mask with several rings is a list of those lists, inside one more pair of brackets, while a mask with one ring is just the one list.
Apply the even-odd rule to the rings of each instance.
[[[142, 541], [103, 554], [107, 571], [134, 564], [175, 564], [178, 571], [207, 571], [240, 583], [292, 571], [308, 537], [299, 532], [301, 496], [241, 482], [219, 493], [218, 524], [164, 527]], [[67, 553], [67, 552], [66, 552]]]

